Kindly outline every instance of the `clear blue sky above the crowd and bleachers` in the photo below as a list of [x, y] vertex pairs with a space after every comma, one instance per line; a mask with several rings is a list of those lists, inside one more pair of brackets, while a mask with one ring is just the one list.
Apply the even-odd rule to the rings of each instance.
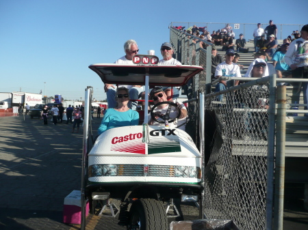
[[[0, 0], [0, 92], [44, 95], [46, 89], [47, 96], [84, 100], [84, 89], [92, 86], [94, 98], [103, 100], [103, 83], [88, 66], [114, 63], [125, 55], [126, 40], [136, 40], [140, 54], [153, 49], [160, 58], [172, 22], [221, 23], [207, 25], [209, 31], [240, 23], [236, 37], [244, 32], [248, 40], [256, 25], [243, 30], [242, 23], [305, 25], [307, 9], [307, 0]], [[282, 35], [294, 29], [285, 26]]]

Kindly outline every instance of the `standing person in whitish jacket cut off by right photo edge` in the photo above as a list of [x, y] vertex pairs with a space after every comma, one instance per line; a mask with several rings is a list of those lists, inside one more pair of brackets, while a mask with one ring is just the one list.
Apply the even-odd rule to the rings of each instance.
[[[292, 69], [292, 78], [308, 78], [308, 24], [300, 31], [301, 37], [291, 42], [285, 54], [285, 63]], [[300, 90], [303, 87], [304, 103], [308, 99], [308, 83], [293, 84], [292, 104], [299, 102]], [[307, 106], [305, 106], [307, 110]], [[305, 113], [305, 116], [308, 116]]]

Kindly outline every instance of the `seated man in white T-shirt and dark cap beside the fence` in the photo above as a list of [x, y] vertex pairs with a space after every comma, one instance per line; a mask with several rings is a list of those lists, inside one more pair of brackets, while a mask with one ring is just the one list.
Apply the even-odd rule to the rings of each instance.
[[[233, 49], [229, 49], [226, 51], [225, 61], [218, 64], [215, 71], [215, 77], [220, 78], [220, 76], [236, 76], [236, 77], [242, 77], [240, 72], [240, 67], [233, 63], [233, 59], [235, 57]], [[219, 83], [216, 85], [216, 91], [222, 91], [224, 89], [227, 89], [227, 87], [230, 87], [229, 85], [230, 81], [219, 81]], [[238, 85], [239, 81], [234, 81], [234, 85]], [[218, 100], [222, 101], [222, 95], [218, 96]]]

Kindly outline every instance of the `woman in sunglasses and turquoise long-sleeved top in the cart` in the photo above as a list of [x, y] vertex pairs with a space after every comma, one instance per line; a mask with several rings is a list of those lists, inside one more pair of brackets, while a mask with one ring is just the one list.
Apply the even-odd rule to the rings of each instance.
[[98, 134], [102, 134], [110, 128], [122, 126], [138, 126], [139, 113], [129, 109], [127, 106], [129, 102], [129, 89], [119, 87], [116, 91], [117, 106], [113, 109], [107, 109], [101, 126], [99, 126]]

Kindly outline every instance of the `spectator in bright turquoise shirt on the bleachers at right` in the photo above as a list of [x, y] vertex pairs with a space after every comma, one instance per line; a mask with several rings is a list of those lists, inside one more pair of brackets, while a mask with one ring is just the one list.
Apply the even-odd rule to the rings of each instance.
[[277, 76], [279, 78], [291, 77], [292, 72], [290, 66], [287, 66], [285, 63], [285, 53], [287, 53], [287, 49], [289, 48], [289, 43], [285, 43], [281, 46], [281, 51], [277, 51], [272, 56], [273, 66], [276, 69]]

